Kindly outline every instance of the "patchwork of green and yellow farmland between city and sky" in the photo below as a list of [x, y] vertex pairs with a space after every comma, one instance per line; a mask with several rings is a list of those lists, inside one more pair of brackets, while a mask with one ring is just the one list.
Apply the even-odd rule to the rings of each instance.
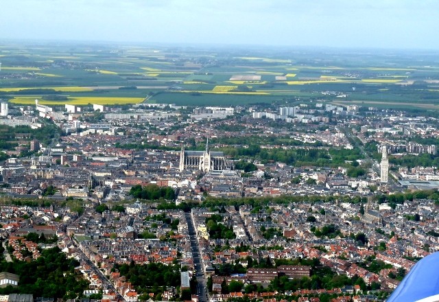
[[0, 62], [0, 98], [14, 104], [439, 104], [439, 64], [425, 53], [17, 44]]

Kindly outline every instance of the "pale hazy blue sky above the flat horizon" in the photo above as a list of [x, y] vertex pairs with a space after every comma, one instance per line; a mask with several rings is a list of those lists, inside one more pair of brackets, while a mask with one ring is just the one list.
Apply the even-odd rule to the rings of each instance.
[[438, 0], [1, 0], [1, 39], [439, 49]]

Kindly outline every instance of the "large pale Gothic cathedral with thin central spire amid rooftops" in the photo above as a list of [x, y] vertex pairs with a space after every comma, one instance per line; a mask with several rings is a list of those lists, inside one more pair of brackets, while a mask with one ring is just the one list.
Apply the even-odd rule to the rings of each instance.
[[204, 151], [186, 151], [181, 148], [180, 172], [185, 170], [200, 170], [202, 172], [232, 170], [232, 163], [224, 157], [224, 152], [209, 150], [209, 138]]

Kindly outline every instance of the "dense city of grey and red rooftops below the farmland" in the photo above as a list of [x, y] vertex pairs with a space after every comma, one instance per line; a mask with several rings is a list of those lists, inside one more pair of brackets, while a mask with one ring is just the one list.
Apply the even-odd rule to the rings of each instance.
[[439, 248], [439, 121], [324, 96], [1, 103], [5, 261], [58, 247], [102, 302], [384, 301]]

